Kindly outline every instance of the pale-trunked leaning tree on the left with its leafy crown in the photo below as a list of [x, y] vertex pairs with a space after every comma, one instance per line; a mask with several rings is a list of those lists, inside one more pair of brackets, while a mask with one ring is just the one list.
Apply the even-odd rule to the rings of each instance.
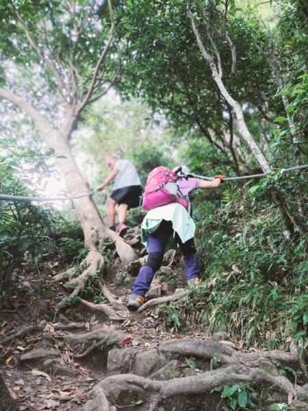
[[73, 297], [90, 273], [103, 268], [100, 251], [106, 235], [121, 260], [136, 259], [131, 247], [103, 225], [70, 147], [81, 113], [118, 79], [112, 0], [12, 0], [0, 7], [0, 97], [9, 111], [14, 105], [29, 116], [47, 147], [55, 150], [70, 196], [79, 197], [73, 203], [89, 252], [86, 269], [73, 280]]

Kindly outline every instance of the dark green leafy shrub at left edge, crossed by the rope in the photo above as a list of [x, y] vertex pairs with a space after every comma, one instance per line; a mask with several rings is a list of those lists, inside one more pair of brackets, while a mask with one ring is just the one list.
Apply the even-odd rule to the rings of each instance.
[[[18, 177], [16, 160], [0, 158], [0, 192], [6, 195], [35, 196], [25, 188]], [[40, 204], [23, 201], [1, 201], [0, 208], [0, 283], [8, 285], [10, 276], [25, 256], [38, 262], [53, 251], [54, 240], [50, 234], [55, 229], [57, 213]]]

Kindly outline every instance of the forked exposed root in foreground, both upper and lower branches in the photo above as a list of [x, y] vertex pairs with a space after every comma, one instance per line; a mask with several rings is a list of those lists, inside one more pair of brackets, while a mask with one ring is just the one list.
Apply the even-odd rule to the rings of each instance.
[[[117, 408], [131, 406], [134, 395], [142, 399], [139, 407], [142, 411], [159, 410], [160, 403], [171, 397], [191, 397], [209, 395], [211, 390], [233, 384], [246, 383], [262, 389], [265, 399], [275, 395], [279, 401], [287, 403], [290, 399], [308, 400], [308, 384], [294, 386], [287, 377], [280, 375], [274, 362], [281, 366], [300, 366], [300, 358], [295, 350], [284, 351], [238, 351], [225, 343], [213, 340], [168, 340], [159, 344], [157, 350], [164, 353], [166, 359], [190, 357], [210, 360], [218, 358], [220, 369], [203, 371], [189, 377], [174, 377], [167, 381], [156, 381], [134, 374], [113, 375], [99, 382], [92, 390], [92, 399], [83, 411], [112, 411], [112, 404]], [[155, 351], [155, 350], [153, 350]], [[151, 357], [146, 357], [151, 358]], [[155, 358], [155, 357], [154, 357]], [[140, 369], [139, 369], [140, 370]], [[137, 369], [136, 369], [137, 371]], [[98, 400], [99, 398], [99, 400]], [[107, 402], [106, 402], [107, 401]], [[120, 406], [118, 404], [120, 403]], [[185, 411], [185, 408], [183, 408]]]

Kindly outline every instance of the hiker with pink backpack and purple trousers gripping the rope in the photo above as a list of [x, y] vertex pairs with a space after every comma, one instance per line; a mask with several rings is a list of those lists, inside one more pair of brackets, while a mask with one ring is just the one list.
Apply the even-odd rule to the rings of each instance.
[[224, 175], [203, 181], [183, 173], [183, 167], [170, 171], [159, 166], [149, 173], [142, 206], [149, 210], [142, 222], [142, 242], [149, 255], [131, 288], [127, 303], [130, 311], [138, 310], [146, 301], [154, 274], [162, 265], [164, 253], [179, 245], [185, 262], [188, 286], [200, 282], [200, 266], [194, 247], [195, 224], [190, 216], [189, 195], [193, 190], [217, 188]]

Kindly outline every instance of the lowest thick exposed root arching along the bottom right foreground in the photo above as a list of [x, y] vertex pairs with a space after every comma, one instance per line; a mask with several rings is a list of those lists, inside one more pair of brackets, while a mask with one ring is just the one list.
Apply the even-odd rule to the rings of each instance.
[[[142, 411], [158, 409], [159, 402], [170, 397], [191, 396], [210, 393], [216, 387], [230, 386], [239, 383], [251, 384], [255, 387], [263, 387], [268, 391], [274, 391], [279, 395], [281, 401], [287, 403], [292, 393], [294, 398], [301, 400], [308, 398], [307, 390], [296, 389], [284, 376], [272, 375], [261, 368], [253, 368], [244, 365], [231, 365], [223, 369], [207, 371], [192, 377], [173, 378], [168, 381], [157, 382], [137, 375], [124, 374], [107, 377], [94, 387], [91, 397], [94, 400], [86, 403], [83, 411], [108, 411], [112, 403], [123, 392], [136, 393], [146, 397], [144, 404], [140, 407]], [[97, 401], [97, 397], [101, 400]], [[105, 398], [104, 398], [105, 397]], [[110, 401], [106, 403], [107, 399]], [[91, 408], [92, 407], [92, 408]], [[97, 407], [97, 408], [94, 408]]]

